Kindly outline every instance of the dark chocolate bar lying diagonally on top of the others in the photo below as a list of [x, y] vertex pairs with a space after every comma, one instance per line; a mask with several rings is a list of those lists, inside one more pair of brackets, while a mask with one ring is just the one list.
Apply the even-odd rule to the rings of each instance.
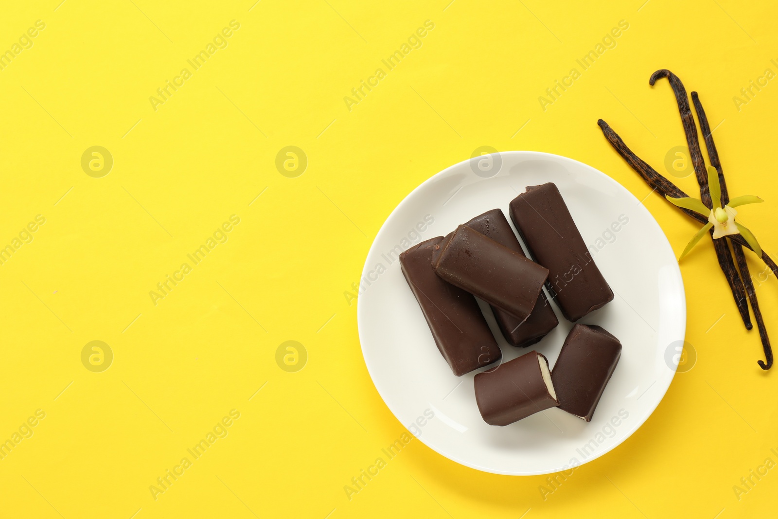
[[548, 270], [468, 226], [458, 226], [433, 255], [435, 273], [454, 286], [527, 319]]

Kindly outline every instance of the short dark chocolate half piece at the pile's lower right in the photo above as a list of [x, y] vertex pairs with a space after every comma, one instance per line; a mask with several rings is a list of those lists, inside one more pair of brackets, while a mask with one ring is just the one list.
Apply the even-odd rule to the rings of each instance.
[[591, 422], [621, 356], [622, 343], [605, 329], [573, 326], [551, 373], [559, 409]]

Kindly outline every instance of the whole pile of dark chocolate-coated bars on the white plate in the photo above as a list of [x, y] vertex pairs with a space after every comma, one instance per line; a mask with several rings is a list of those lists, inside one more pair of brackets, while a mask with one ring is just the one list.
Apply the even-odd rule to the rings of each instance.
[[[531, 260], [500, 209], [400, 255], [405, 279], [457, 377], [503, 356], [475, 296], [491, 305], [506, 341], [522, 348], [559, 324], [544, 284], [571, 322], [613, 300], [555, 184], [527, 187], [510, 202], [510, 218]], [[494, 426], [552, 407], [589, 422], [621, 352], [619, 339], [605, 329], [576, 324], [553, 370], [533, 351], [475, 375], [478, 409]]]

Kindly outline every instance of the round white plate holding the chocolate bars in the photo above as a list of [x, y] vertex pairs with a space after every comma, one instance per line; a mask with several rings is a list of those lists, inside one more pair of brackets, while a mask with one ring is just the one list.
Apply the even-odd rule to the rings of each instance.
[[[359, 340], [367, 369], [384, 402], [434, 451], [486, 472], [559, 472], [621, 444], [661, 401], [675, 375], [678, 357], [674, 355], [685, 333], [681, 272], [654, 217], [629, 191], [600, 171], [576, 160], [538, 152], [498, 153], [483, 160], [483, 170], [476, 160], [469, 160], [436, 174], [387, 218], [370, 247], [363, 271], [357, 306]], [[548, 409], [510, 426], [489, 426], [475, 404], [473, 377], [478, 372], [463, 377], [451, 373], [405, 282], [396, 254], [390, 252], [445, 235], [496, 207], [510, 220], [510, 201], [527, 186], [545, 182], [554, 182], [559, 188], [593, 251], [594, 261], [615, 293], [612, 302], [581, 322], [599, 324], [618, 337], [622, 356], [591, 423], [560, 409]], [[479, 304], [503, 350], [503, 362], [537, 349], [554, 365], [572, 328], [558, 308], [559, 326], [525, 349], [508, 345], [489, 307], [482, 301]]]

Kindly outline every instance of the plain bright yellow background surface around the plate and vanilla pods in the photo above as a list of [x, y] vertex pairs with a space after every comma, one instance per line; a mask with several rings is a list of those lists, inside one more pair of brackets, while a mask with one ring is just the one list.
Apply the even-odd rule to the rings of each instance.
[[[650, 189], [596, 121], [664, 172], [685, 139], [668, 83], [648, 78], [670, 68], [712, 125], [723, 120], [731, 194], [767, 201], [742, 208], [742, 221], [778, 254], [778, 82], [739, 111], [733, 101], [778, 72], [774, 6], [59, 1], [6, 3], [0, 16], [0, 50], [46, 24], [0, 71], [0, 245], [46, 218], [0, 266], [0, 440], [46, 413], [0, 460], [0, 515], [776, 514], [778, 468], [740, 500], [732, 489], [778, 461], [778, 380], [756, 365], [759, 337], [709, 240], [682, 263], [696, 366], [633, 437], [546, 500], [544, 476], [477, 472], [418, 440], [351, 500], [343, 489], [405, 430], [373, 387], [344, 292], [395, 205], [479, 146], [569, 156], [642, 199]], [[149, 96], [233, 19], [228, 46], [155, 111]], [[422, 47], [349, 110], [344, 96], [428, 19]], [[538, 96], [622, 19], [616, 47], [542, 110]], [[96, 145], [114, 157], [101, 178], [80, 165]], [[306, 153], [300, 177], [276, 170], [284, 146]], [[696, 194], [694, 177], [678, 184]], [[699, 225], [657, 195], [645, 204], [680, 252]], [[155, 306], [149, 291], [233, 214], [229, 240]], [[774, 276], [758, 292], [778, 338]], [[114, 352], [102, 373], [81, 362], [93, 340]], [[308, 354], [296, 373], [275, 360], [288, 340]], [[149, 486], [231, 409], [240, 419], [228, 436], [154, 500]]]

